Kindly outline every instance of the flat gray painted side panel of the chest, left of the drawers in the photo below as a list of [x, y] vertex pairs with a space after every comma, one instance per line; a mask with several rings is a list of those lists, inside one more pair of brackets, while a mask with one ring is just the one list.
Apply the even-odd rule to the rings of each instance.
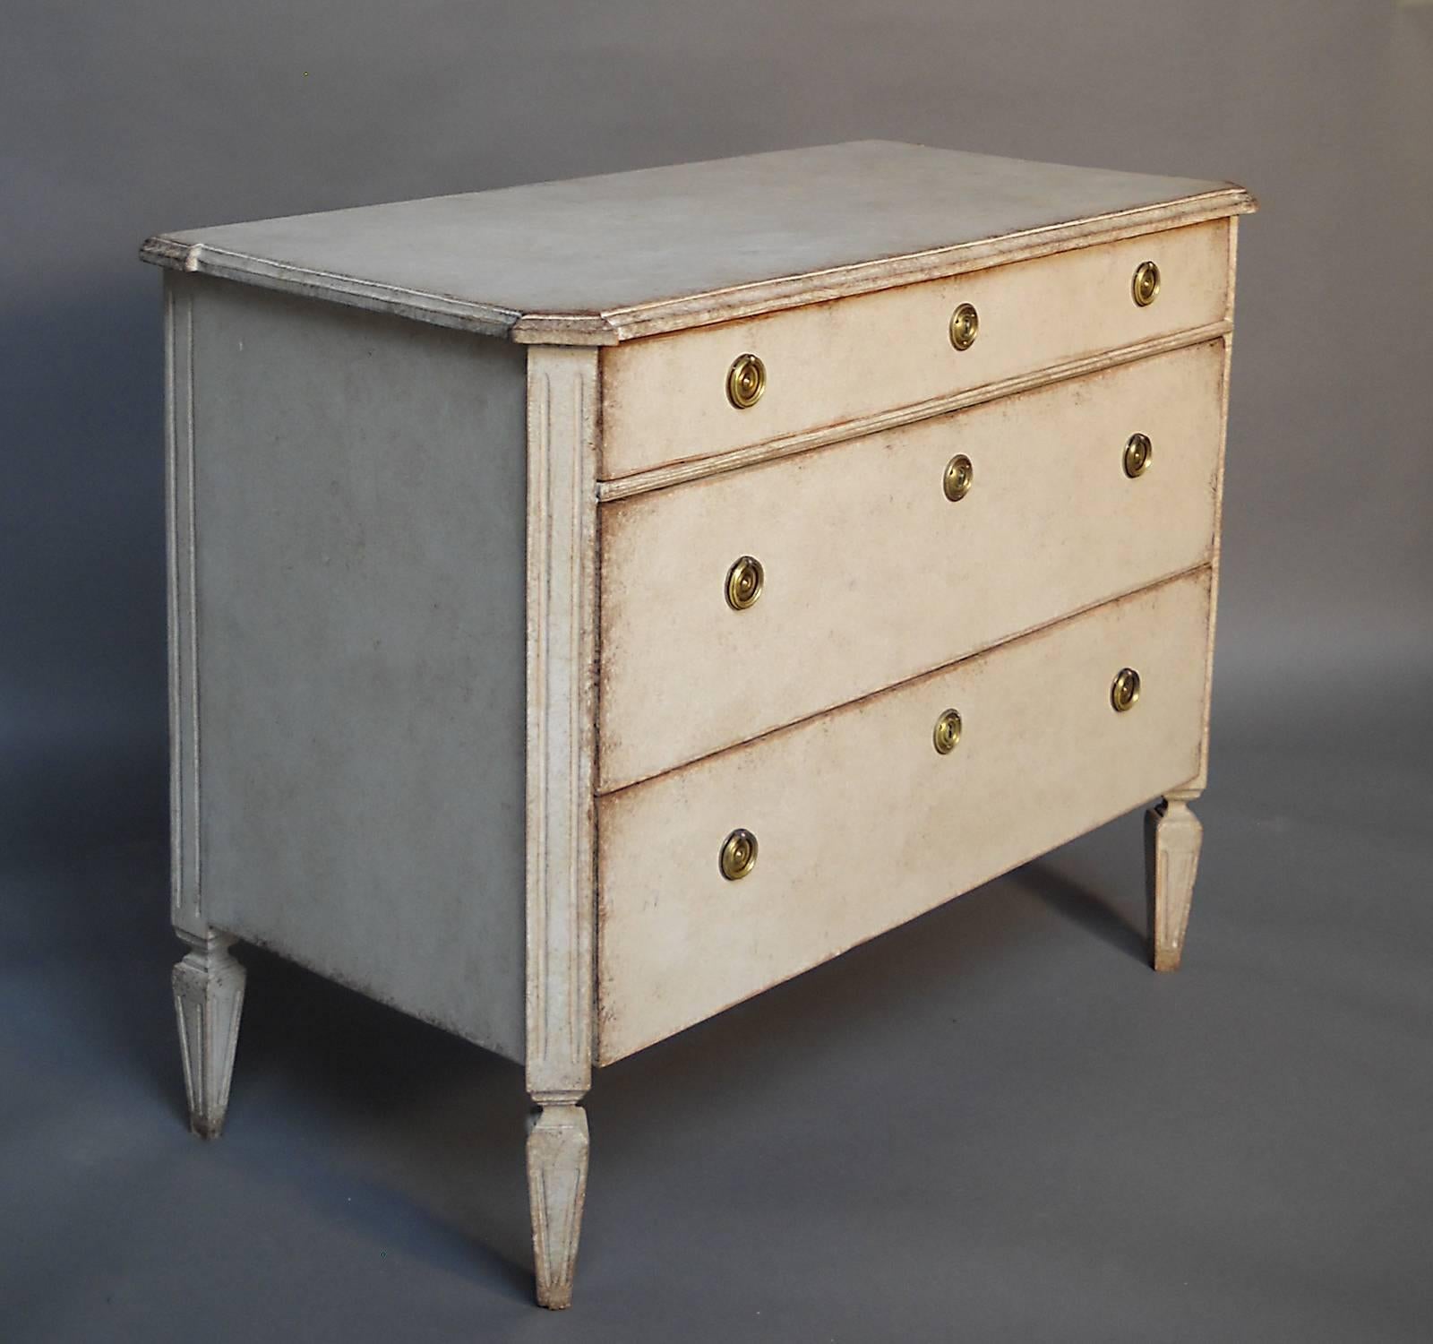
[[520, 1060], [524, 352], [188, 282], [205, 913]]

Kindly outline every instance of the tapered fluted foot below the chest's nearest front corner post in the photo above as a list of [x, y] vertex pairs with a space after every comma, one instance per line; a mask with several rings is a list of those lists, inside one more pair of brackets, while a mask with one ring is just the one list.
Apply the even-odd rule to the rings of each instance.
[[588, 1115], [580, 1106], [543, 1106], [527, 1132], [533, 1264], [543, 1307], [572, 1305], [586, 1194]]

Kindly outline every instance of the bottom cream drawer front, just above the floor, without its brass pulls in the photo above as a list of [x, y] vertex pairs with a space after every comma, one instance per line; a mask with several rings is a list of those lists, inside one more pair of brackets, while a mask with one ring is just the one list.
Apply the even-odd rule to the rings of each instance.
[[[1199, 769], [1209, 570], [599, 800], [599, 1057], [620, 1059]], [[1116, 673], [1141, 691], [1112, 706]], [[959, 742], [934, 748], [946, 709]], [[725, 837], [757, 837], [728, 880]]]

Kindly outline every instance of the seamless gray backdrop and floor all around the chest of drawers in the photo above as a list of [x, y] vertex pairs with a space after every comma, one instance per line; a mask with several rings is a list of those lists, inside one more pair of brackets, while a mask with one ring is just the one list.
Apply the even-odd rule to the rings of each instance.
[[[603, 1073], [552, 1318], [512, 1066], [254, 954], [183, 1131], [136, 248], [867, 136], [1262, 203], [1185, 970], [1126, 818]], [[1433, 7], [6, 0], [0, 165], [0, 1337], [1433, 1334]]]

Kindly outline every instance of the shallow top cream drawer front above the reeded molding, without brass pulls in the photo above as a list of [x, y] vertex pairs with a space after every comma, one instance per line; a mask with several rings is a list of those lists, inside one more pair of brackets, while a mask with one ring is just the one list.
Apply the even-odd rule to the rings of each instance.
[[[1135, 268], [1159, 292], [1134, 301]], [[605, 480], [914, 405], [1035, 370], [1188, 331], [1228, 315], [1230, 224], [1217, 221], [652, 337], [602, 354]], [[956, 350], [954, 309], [979, 317]], [[765, 385], [738, 410], [728, 374], [755, 354]]]

